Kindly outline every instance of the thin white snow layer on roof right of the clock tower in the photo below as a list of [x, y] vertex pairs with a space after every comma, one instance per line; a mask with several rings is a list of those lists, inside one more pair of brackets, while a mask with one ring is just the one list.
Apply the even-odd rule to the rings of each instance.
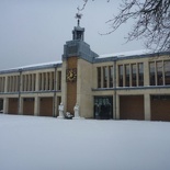
[[152, 52], [149, 49], [139, 49], [139, 50], [131, 50], [131, 52], [121, 52], [121, 53], [113, 53], [113, 54], [104, 54], [100, 55], [99, 58], [106, 58], [106, 57], [127, 57], [127, 56], [135, 56], [135, 55], [146, 55], [151, 54]]

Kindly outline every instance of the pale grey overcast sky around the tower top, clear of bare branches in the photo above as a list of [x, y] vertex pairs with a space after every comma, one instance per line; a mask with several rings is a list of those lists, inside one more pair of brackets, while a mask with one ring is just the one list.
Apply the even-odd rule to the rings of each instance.
[[[110, 35], [99, 34], [110, 31], [105, 21], [116, 13], [118, 2], [90, 1], [82, 11], [84, 41], [99, 55], [144, 48], [139, 41], [125, 43], [129, 24]], [[83, 0], [0, 0], [0, 70], [60, 60], [64, 44], [71, 41], [77, 25], [77, 7], [82, 3]]]

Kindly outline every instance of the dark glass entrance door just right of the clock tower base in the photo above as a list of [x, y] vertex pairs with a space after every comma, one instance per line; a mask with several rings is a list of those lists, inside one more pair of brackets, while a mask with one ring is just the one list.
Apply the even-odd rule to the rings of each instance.
[[94, 97], [94, 118], [113, 118], [113, 97]]

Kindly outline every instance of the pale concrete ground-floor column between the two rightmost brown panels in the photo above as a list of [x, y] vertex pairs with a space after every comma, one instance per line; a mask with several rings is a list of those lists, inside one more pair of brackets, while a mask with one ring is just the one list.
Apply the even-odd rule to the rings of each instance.
[[145, 107], [145, 120], [150, 121], [151, 113], [150, 113], [150, 94], [144, 95], [144, 107]]

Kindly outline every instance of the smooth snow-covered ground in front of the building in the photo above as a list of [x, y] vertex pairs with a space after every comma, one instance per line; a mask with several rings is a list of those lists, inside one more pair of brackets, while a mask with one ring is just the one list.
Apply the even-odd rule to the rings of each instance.
[[0, 170], [169, 170], [170, 123], [0, 114]]

